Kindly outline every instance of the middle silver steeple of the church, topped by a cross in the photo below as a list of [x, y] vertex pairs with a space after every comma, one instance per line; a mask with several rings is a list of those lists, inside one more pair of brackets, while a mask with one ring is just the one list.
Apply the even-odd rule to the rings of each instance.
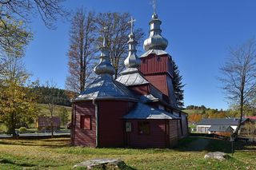
[[134, 18], [131, 17], [130, 19], [130, 34], [129, 34], [129, 42], [127, 42], [127, 44], [129, 45], [129, 53], [128, 53], [128, 57], [126, 57], [126, 60], [124, 61], [125, 62], [125, 65], [127, 68], [137, 68], [141, 61], [140, 59], [138, 58], [136, 52], [136, 45], [137, 45], [137, 42], [134, 40], [134, 22], [136, 20]]

